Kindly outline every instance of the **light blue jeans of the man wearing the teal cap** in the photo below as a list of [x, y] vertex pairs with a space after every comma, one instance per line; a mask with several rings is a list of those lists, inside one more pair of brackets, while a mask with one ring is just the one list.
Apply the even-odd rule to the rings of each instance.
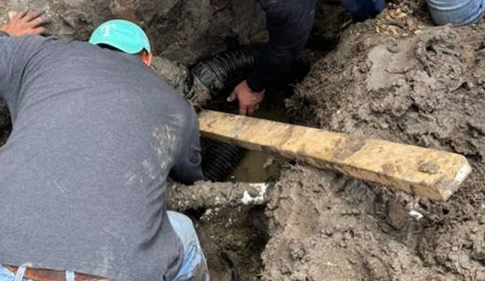
[[[202, 247], [195, 233], [192, 221], [187, 216], [168, 211], [170, 223], [183, 244], [183, 263], [174, 280], [170, 281], [209, 281], [209, 271]], [[75, 281], [74, 273], [66, 271], [66, 280]], [[23, 278], [22, 268], [17, 275], [0, 265], [0, 281], [30, 281]]]

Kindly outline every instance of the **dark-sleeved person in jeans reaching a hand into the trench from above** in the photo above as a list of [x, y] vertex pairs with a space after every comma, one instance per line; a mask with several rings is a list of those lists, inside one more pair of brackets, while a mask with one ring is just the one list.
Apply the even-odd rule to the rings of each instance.
[[[426, 0], [437, 25], [469, 25], [484, 13], [485, 0]], [[269, 42], [259, 52], [255, 66], [228, 102], [238, 100], [239, 114], [252, 115], [264, 100], [271, 81], [292, 63], [309, 38], [316, 0], [259, 0], [266, 13]], [[384, 0], [342, 0], [354, 21], [373, 18], [385, 8]]]

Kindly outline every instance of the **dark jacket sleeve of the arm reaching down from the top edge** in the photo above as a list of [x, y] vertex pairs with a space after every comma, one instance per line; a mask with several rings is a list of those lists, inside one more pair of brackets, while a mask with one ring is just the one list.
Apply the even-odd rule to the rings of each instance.
[[262, 91], [289, 66], [311, 32], [316, 0], [260, 0], [266, 13], [269, 43], [257, 55], [254, 69], [247, 77], [253, 91]]

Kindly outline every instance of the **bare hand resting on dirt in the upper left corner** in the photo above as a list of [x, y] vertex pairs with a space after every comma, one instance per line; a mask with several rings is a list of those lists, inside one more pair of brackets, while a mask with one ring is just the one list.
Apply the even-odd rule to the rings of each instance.
[[0, 30], [10, 36], [46, 34], [47, 30], [42, 27], [46, 22], [48, 20], [42, 17], [42, 13], [20, 12], [14, 15], [6, 25], [0, 27]]

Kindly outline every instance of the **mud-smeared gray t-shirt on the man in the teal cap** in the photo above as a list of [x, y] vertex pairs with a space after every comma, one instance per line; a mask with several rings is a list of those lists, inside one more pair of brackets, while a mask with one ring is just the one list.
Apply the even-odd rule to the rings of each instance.
[[136, 55], [44, 37], [0, 37], [0, 93], [0, 263], [171, 280], [167, 176], [202, 178], [193, 108]]

